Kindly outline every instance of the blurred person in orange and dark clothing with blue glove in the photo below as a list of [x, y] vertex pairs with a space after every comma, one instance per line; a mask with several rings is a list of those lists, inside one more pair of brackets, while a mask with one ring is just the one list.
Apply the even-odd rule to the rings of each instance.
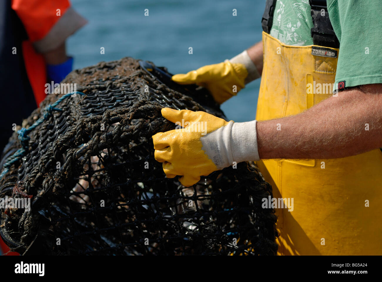
[[68, 0], [0, 2], [1, 151], [13, 125], [21, 125], [45, 98], [45, 84], [60, 83], [72, 70], [65, 41], [86, 23]]

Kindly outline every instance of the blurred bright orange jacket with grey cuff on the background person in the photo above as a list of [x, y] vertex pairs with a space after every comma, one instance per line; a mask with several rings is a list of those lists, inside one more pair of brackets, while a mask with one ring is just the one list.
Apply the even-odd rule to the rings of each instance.
[[86, 24], [68, 0], [12, 0], [15, 10], [28, 34], [23, 42], [25, 68], [36, 104], [44, 100], [46, 66], [41, 53], [49, 52]]

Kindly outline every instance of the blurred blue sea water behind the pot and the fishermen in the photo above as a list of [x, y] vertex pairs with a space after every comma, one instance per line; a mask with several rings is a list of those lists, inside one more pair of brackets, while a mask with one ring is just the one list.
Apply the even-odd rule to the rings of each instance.
[[[230, 59], [261, 40], [265, 0], [72, 0], [89, 23], [67, 41], [74, 68], [130, 56], [186, 73]], [[149, 9], [149, 16], [144, 10]], [[237, 16], [232, 10], [237, 10]], [[100, 48], [105, 54], [100, 54]], [[193, 47], [193, 54], [188, 48]], [[260, 81], [222, 105], [235, 122], [254, 120]]]

